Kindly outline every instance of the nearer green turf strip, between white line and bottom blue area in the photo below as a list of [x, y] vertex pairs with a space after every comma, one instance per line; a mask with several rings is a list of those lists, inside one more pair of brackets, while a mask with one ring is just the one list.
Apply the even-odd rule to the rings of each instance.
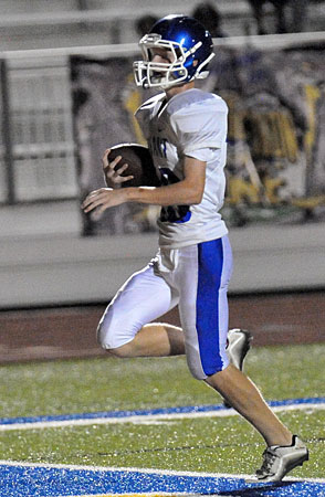
[[[321, 477], [325, 468], [325, 413], [283, 413], [307, 441], [311, 461], [295, 476]], [[261, 438], [239, 417], [169, 421], [162, 424], [92, 425], [4, 432], [0, 458], [96, 466], [252, 473]]]

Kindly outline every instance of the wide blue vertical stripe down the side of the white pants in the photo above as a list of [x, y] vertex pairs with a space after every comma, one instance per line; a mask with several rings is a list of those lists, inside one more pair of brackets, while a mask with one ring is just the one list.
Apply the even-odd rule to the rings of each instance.
[[221, 371], [224, 366], [220, 350], [220, 311], [228, 313], [228, 306], [226, 309], [220, 309], [222, 268], [222, 239], [200, 243], [198, 245], [197, 332], [202, 369], [207, 376]]

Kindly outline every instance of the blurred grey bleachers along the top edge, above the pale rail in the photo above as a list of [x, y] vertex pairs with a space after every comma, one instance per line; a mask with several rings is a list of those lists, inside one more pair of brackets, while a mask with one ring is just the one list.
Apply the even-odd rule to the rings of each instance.
[[[197, 0], [1, 0], [0, 51], [134, 43], [138, 39], [137, 18], [180, 11], [190, 14], [199, 3]], [[218, 8], [222, 30], [229, 36], [256, 33], [247, 0], [218, 0], [211, 4]], [[272, 32], [272, 6], [265, 7], [265, 15]], [[304, 31], [322, 31], [324, 24], [324, 2], [310, 2]]]

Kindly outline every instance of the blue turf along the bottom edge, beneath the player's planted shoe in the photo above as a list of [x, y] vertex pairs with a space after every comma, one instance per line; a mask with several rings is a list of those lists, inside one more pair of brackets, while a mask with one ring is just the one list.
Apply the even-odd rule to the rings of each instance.
[[325, 483], [286, 480], [277, 485], [247, 484], [242, 478], [92, 470], [55, 467], [0, 466], [1, 497], [65, 497], [103, 494], [196, 494], [242, 497], [325, 496]]

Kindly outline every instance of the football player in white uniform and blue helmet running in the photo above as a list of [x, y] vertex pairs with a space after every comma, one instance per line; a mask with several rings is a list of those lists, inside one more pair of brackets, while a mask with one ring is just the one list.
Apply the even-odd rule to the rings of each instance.
[[[232, 254], [220, 209], [228, 108], [220, 96], [195, 86], [208, 75], [211, 35], [192, 18], [168, 15], [139, 45], [136, 84], [162, 89], [136, 113], [161, 186], [103, 188], [88, 194], [83, 209], [101, 213], [124, 202], [160, 205], [159, 251], [117, 292], [98, 325], [98, 341], [122, 358], [186, 352], [192, 376], [219, 392], [264, 438], [255, 480], [281, 480], [308, 458], [308, 451], [227, 353]], [[181, 328], [151, 322], [177, 304]]]

